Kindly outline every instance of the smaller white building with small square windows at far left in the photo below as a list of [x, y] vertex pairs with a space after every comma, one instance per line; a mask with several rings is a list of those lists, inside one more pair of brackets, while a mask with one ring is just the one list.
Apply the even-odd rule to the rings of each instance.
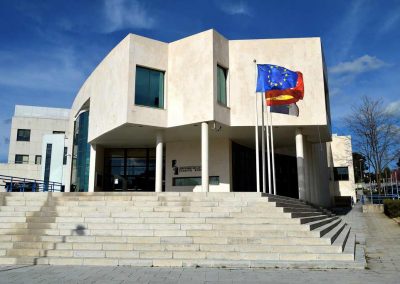
[[[65, 183], [69, 109], [16, 105], [0, 175]], [[51, 145], [51, 149], [46, 148]], [[46, 152], [47, 150], [47, 152]], [[49, 158], [46, 160], [46, 158]], [[47, 161], [47, 170], [45, 165]]]

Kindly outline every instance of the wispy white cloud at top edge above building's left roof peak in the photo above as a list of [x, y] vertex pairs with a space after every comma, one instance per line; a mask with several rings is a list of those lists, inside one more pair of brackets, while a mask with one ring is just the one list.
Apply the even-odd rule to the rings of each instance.
[[104, 0], [104, 12], [106, 33], [127, 28], [151, 29], [156, 23], [146, 7], [136, 0]]

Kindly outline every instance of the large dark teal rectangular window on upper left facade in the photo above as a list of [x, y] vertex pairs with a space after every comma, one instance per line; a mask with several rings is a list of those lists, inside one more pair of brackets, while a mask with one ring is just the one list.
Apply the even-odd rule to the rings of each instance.
[[136, 66], [135, 104], [164, 107], [164, 72]]

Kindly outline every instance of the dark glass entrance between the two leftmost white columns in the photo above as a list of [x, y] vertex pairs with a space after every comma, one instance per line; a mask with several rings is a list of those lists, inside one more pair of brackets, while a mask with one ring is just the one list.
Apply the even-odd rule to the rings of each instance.
[[104, 149], [104, 191], [154, 191], [156, 151]]

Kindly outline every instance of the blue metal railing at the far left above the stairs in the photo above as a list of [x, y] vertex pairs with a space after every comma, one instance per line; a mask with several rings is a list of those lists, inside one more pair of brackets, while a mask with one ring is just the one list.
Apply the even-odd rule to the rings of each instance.
[[6, 192], [63, 191], [63, 185], [60, 182], [5, 175], [0, 175], [0, 186], [4, 186]]

